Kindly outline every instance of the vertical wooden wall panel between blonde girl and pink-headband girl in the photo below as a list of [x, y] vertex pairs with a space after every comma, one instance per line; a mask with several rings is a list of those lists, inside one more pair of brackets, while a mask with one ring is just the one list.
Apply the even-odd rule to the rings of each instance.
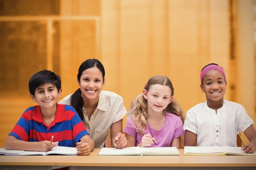
[[[186, 112], [196, 104], [198, 74], [198, 5], [196, 1], [169, 0], [169, 78], [175, 98]], [[193, 103], [194, 102], [194, 103]]]

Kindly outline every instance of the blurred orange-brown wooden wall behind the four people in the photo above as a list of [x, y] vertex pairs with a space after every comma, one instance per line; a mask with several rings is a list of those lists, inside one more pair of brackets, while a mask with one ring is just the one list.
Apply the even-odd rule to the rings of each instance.
[[127, 110], [162, 74], [185, 112], [206, 100], [200, 71], [216, 62], [227, 74], [225, 99], [256, 122], [254, 8], [256, 0], [0, 0], [0, 147], [35, 105], [29, 78], [54, 71], [63, 98], [79, 88], [78, 68], [89, 58], [102, 62], [103, 89], [121, 95]]

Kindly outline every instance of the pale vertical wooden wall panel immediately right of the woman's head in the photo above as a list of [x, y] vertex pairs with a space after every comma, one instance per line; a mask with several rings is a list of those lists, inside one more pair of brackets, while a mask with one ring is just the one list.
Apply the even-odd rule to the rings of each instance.
[[104, 89], [120, 94], [120, 6], [119, 0], [101, 3], [101, 62], [105, 68]]

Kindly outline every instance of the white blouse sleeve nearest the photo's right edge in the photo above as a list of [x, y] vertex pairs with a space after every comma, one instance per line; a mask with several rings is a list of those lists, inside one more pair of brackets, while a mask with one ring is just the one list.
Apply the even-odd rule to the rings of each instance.
[[238, 114], [236, 122], [238, 122], [238, 131], [244, 132], [250, 125], [253, 125], [253, 120], [250, 118], [250, 116], [247, 115], [244, 107], [240, 105], [238, 109]]

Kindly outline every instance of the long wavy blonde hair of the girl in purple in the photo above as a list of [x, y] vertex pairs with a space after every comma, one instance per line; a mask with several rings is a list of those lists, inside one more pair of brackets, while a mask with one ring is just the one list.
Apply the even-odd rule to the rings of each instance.
[[[144, 89], [149, 91], [151, 85], [166, 85], [171, 88], [171, 96], [174, 95], [174, 88], [172, 85], [171, 80], [166, 76], [157, 75], [151, 77], [147, 84], [145, 85]], [[182, 123], [184, 123], [185, 115], [184, 111], [181, 108], [180, 104], [177, 100], [173, 99], [172, 102], [166, 107], [166, 112], [173, 113], [180, 117]], [[131, 118], [134, 122], [133, 127], [140, 131], [144, 131], [147, 126], [147, 118], [148, 118], [148, 102], [144, 98], [143, 94], [139, 94], [132, 102], [131, 107], [128, 111], [127, 120]]]

